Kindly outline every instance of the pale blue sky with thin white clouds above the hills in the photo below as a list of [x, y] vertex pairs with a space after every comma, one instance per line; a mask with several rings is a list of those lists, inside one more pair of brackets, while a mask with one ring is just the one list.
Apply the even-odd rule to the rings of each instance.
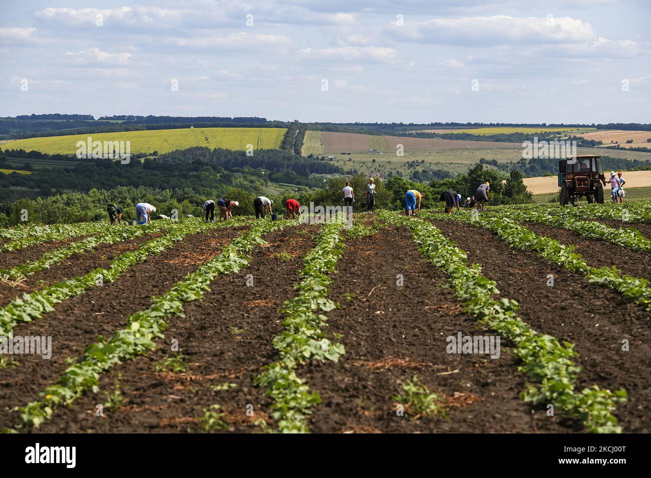
[[651, 122], [649, 0], [0, 5], [0, 116]]

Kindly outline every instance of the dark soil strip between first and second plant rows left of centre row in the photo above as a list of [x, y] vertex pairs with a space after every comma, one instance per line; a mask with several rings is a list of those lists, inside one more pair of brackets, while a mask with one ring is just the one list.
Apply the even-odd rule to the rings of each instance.
[[124, 328], [132, 313], [150, 306], [151, 297], [169, 291], [245, 230], [246, 226], [211, 228], [187, 235], [163, 254], [133, 265], [115, 282], [66, 300], [40, 321], [18, 324], [14, 336], [52, 338], [51, 358], [17, 354], [11, 357], [17, 362], [14, 367], [0, 368], [0, 428], [16, 423], [18, 416], [10, 410], [38, 399], [38, 393], [56, 382], [72, 358], [83, 356], [87, 345]]

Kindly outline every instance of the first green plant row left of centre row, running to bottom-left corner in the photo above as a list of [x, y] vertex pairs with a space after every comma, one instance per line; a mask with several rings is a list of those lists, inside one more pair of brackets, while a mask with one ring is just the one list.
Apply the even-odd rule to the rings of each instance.
[[[238, 272], [249, 263], [247, 253], [256, 245], [264, 243], [262, 237], [278, 228], [296, 221], [258, 221], [237, 239], [230, 241], [219, 254], [200, 265], [195, 272], [176, 282], [167, 293], [152, 297], [145, 310], [132, 313], [125, 328], [115, 332], [110, 339], [100, 339], [87, 347], [85, 354], [70, 365], [56, 384], [48, 386], [41, 399], [16, 408], [20, 412], [21, 426], [39, 427], [51, 418], [61, 405], [71, 405], [86, 392], [99, 391], [100, 375], [114, 365], [152, 351], [156, 339], [164, 338], [163, 332], [170, 319], [184, 316], [184, 304], [201, 300], [210, 283], [220, 274]], [[214, 224], [213, 224], [214, 225]]]

